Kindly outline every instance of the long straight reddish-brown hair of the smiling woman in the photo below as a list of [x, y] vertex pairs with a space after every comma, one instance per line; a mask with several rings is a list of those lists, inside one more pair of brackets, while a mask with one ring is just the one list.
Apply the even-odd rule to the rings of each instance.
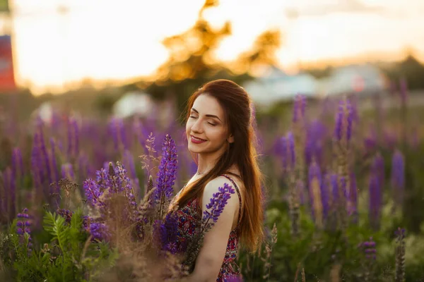
[[223, 107], [225, 121], [229, 132], [234, 136], [234, 142], [230, 143], [229, 149], [221, 155], [211, 171], [184, 188], [175, 204], [182, 207], [193, 198], [200, 200], [209, 181], [223, 173], [229, 173], [230, 167], [236, 165], [245, 186], [242, 216], [239, 219], [240, 240], [248, 250], [254, 252], [264, 238], [262, 206], [264, 196], [261, 190], [263, 176], [257, 164], [257, 137], [254, 131], [252, 101], [247, 92], [235, 82], [213, 80], [203, 85], [189, 98], [185, 114], [186, 122], [194, 101], [200, 94], [216, 98]]

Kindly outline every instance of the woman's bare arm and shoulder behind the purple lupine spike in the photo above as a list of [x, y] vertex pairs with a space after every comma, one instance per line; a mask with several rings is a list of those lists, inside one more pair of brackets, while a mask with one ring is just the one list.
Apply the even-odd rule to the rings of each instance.
[[[219, 177], [209, 182], [203, 194], [202, 214], [213, 197], [213, 193], [218, 192], [219, 187], [223, 187], [228, 182], [226, 178]], [[223, 264], [225, 251], [227, 250], [228, 237], [230, 236], [232, 223], [239, 206], [239, 200], [236, 194], [232, 194], [228, 200], [218, 221], [213, 225], [210, 231], [205, 234], [204, 245], [201, 247], [196, 259], [196, 266], [193, 274], [189, 276], [188, 281], [215, 282], [218, 278], [220, 267]]]

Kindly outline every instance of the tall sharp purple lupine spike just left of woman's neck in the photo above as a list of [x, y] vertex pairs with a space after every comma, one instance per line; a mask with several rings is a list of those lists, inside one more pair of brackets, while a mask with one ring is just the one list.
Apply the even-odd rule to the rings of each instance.
[[173, 186], [177, 178], [177, 164], [178, 164], [177, 148], [174, 140], [170, 135], [166, 135], [163, 140], [162, 159], [160, 160], [159, 171], [157, 176], [157, 189], [154, 192], [154, 199], [156, 201], [165, 197], [170, 200], [174, 192]]

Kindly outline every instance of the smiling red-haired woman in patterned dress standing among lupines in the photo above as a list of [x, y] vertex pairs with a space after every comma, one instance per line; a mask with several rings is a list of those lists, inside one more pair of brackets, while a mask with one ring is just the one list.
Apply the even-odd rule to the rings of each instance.
[[[204, 237], [189, 281], [227, 281], [240, 276], [239, 241], [254, 252], [264, 236], [261, 172], [257, 165], [251, 101], [230, 80], [199, 88], [187, 104], [186, 135], [197, 173], [172, 200], [177, 205], [179, 245], [199, 233], [206, 204], [225, 183], [236, 191]], [[193, 243], [193, 242], [191, 242]]]

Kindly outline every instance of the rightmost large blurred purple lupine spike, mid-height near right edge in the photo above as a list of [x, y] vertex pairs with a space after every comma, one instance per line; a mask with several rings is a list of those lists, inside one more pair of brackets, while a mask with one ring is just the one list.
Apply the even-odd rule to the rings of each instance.
[[399, 150], [394, 152], [391, 159], [391, 187], [394, 192], [396, 204], [401, 205], [404, 198], [405, 188], [405, 164], [404, 156]]

